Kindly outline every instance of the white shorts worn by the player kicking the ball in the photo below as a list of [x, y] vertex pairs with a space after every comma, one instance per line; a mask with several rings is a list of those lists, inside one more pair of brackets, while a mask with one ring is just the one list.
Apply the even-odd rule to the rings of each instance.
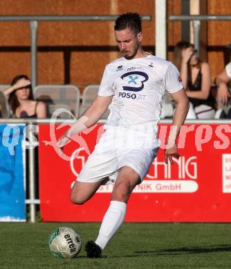
[[147, 134], [124, 132], [122, 128], [107, 129], [76, 180], [98, 182], [109, 177], [115, 181], [120, 168], [129, 166], [142, 181], [160, 146], [158, 139], [150, 141], [149, 137], [148, 141], [147, 137]]

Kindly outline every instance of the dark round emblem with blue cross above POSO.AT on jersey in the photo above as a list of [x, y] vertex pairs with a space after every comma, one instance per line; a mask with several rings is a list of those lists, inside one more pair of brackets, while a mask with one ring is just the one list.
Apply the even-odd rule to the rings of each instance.
[[121, 79], [127, 84], [127, 86], [122, 87], [124, 90], [140, 92], [144, 88], [144, 82], [149, 79], [149, 76], [145, 72], [133, 71], [123, 74]]

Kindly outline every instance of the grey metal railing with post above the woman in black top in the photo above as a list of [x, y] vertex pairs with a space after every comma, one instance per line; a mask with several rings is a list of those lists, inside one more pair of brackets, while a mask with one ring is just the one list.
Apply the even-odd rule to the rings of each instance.
[[194, 46], [200, 55], [201, 21], [231, 21], [231, 15], [171, 15], [168, 21], [192, 21], [194, 28]]

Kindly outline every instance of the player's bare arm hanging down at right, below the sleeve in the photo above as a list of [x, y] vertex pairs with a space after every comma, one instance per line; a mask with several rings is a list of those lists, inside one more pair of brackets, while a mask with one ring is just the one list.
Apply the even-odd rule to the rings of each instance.
[[172, 164], [172, 157], [178, 158], [180, 156], [177, 151], [176, 138], [178, 137], [181, 126], [185, 122], [190, 106], [184, 89], [172, 93], [171, 97], [176, 102], [176, 110], [174, 112], [171, 130], [167, 139], [167, 146], [165, 148], [165, 163], [168, 163], [169, 160]]

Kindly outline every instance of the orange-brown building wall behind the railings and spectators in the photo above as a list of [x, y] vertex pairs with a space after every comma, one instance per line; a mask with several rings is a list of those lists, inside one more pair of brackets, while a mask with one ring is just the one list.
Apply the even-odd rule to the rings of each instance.
[[[181, 1], [167, 0], [167, 13], [181, 14]], [[209, 14], [230, 14], [230, 0], [207, 0]], [[143, 23], [145, 50], [155, 52], [155, 0], [1, 0], [0, 15], [149, 14]], [[208, 23], [208, 60], [213, 76], [223, 67], [223, 46], [231, 22]], [[30, 26], [28, 22], [0, 22], [0, 83], [30, 76]], [[219, 35], [219, 36], [218, 36]], [[220, 37], [221, 36], [221, 37]], [[168, 23], [168, 58], [181, 40], [181, 22]], [[104, 66], [120, 56], [113, 36], [113, 22], [39, 22], [38, 83], [72, 83], [80, 88], [100, 83]], [[219, 50], [221, 49], [221, 50]], [[219, 66], [217, 63], [221, 63]]]

